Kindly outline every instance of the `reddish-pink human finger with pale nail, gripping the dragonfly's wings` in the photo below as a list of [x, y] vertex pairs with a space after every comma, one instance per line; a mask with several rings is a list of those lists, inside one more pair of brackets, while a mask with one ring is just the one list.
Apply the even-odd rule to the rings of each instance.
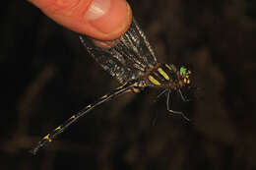
[[[56, 23], [99, 40], [117, 39], [129, 28], [132, 20], [131, 8], [125, 0], [29, 0], [29, 2]], [[98, 11], [96, 9], [99, 9], [99, 12], [96, 13]]]

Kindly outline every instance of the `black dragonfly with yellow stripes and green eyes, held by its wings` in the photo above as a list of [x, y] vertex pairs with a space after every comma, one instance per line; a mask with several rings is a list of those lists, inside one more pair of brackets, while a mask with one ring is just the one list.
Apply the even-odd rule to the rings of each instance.
[[118, 39], [100, 41], [82, 34], [79, 35], [79, 39], [96, 63], [115, 78], [120, 86], [102, 95], [44, 136], [31, 149], [32, 154], [36, 154], [47, 143], [53, 142], [70, 125], [102, 103], [126, 92], [140, 92], [148, 86], [163, 89], [160, 95], [166, 94], [166, 110], [189, 121], [182, 112], [171, 110], [169, 100], [171, 92], [176, 91], [181, 99], [186, 101], [182, 89], [191, 86], [191, 71], [183, 66], [176, 68], [173, 64], [159, 63], [150, 42], [134, 18], [130, 28]]

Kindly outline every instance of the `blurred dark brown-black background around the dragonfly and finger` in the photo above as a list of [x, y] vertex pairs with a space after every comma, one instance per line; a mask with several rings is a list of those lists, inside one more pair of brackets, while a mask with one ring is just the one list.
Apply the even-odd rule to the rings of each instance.
[[[192, 68], [200, 89], [173, 98], [188, 123], [168, 116], [160, 90], [125, 94], [32, 156], [43, 135], [118, 83], [77, 35], [26, 1], [1, 5], [0, 168], [256, 169], [256, 3], [130, 1], [160, 62]], [[152, 118], [159, 113], [156, 126]]]

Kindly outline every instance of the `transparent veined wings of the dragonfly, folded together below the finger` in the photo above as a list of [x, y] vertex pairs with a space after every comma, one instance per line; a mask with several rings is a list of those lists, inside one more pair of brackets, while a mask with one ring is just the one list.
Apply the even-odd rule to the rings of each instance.
[[134, 19], [113, 46], [98, 47], [86, 35], [80, 35], [80, 40], [96, 62], [122, 85], [137, 80], [157, 64], [149, 41]]

